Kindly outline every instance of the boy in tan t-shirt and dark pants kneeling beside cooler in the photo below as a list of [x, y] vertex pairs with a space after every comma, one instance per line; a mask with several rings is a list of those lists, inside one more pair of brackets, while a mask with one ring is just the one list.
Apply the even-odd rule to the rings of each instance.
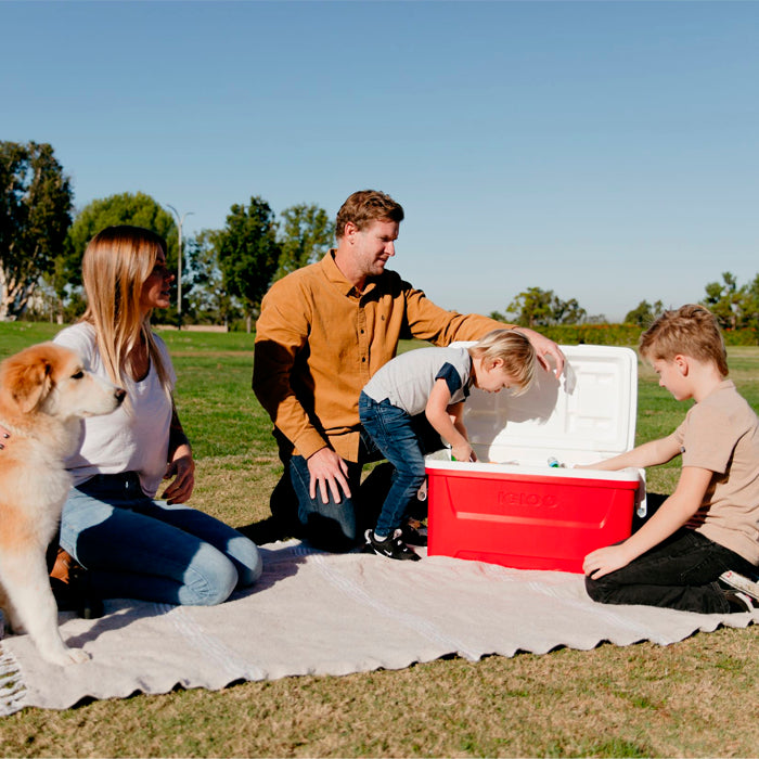
[[594, 601], [725, 614], [759, 608], [759, 429], [728, 380], [724, 343], [702, 306], [662, 313], [641, 356], [677, 400], [695, 404], [668, 437], [583, 468], [664, 464], [682, 455], [674, 492], [634, 535], [584, 559]]

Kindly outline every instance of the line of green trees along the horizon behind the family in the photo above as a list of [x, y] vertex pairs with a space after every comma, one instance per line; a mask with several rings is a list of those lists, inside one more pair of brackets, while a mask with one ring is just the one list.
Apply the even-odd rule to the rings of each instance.
[[[0, 321], [56, 317], [72, 321], [83, 312], [81, 257], [90, 239], [111, 224], [134, 224], [166, 241], [168, 267], [177, 271], [179, 235], [171, 214], [144, 193], [95, 200], [75, 211], [69, 178], [51, 145], [0, 141]], [[261, 298], [272, 282], [319, 260], [334, 240], [334, 222], [323, 208], [303, 203], [278, 219], [260, 196], [234, 204], [221, 230], [203, 230], [183, 241], [182, 303], [156, 319], [230, 324], [250, 331]], [[706, 285], [702, 303], [725, 330], [759, 330], [759, 274], [738, 286], [730, 272]], [[641, 303], [625, 323], [647, 326], [660, 300]], [[605, 323], [577, 299], [529, 287], [494, 319], [530, 327]]]

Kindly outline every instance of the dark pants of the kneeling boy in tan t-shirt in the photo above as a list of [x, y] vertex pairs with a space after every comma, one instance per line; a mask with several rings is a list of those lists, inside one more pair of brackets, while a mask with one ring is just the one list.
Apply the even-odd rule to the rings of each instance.
[[586, 588], [604, 604], [725, 614], [732, 609], [717, 579], [729, 569], [746, 576], [757, 570], [734, 551], [683, 527], [626, 567], [597, 580], [586, 577]]

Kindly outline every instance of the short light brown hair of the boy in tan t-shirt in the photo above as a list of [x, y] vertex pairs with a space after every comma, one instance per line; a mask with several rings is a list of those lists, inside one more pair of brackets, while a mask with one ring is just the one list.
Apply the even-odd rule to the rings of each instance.
[[728, 351], [715, 314], [704, 306], [687, 304], [665, 311], [641, 335], [641, 356], [649, 362], [671, 361], [678, 355], [711, 361], [728, 376]]

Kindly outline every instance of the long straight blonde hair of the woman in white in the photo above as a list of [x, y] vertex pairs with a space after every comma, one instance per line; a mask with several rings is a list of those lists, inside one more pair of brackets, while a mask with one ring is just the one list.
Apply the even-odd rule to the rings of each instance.
[[166, 241], [141, 227], [106, 227], [92, 237], [81, 261], [87, 310], [81, 321], [95, 330], [98, 349], [111, 381], [129, 385], [128, 357], [141, 340], [160, 384], [169, 391], [169, 378], [153, 337], [150, 313], [140, 308], [142, 286], [151, 275]]

